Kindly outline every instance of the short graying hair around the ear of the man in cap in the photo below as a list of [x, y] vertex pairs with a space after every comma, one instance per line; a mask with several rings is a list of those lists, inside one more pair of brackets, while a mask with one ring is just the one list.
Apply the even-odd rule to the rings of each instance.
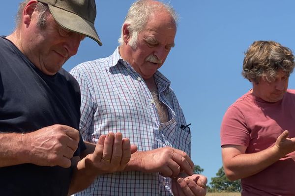
[[[24, 0], [22, 2], [20, 2], [19, 4], [19, 9], [15, 18], [15, 23], [17, 28], [20, 27], [21, 22], [22, 22], [22, 17], [23, 17], [23, 11], [26, 7], [26, 5], [28, 4], [29, 0]], [[49, 12], [47, 12], [49, 10], [48, 5], [42, 2], [38, 2], [35, 8], [35, 11], [37, 11], [39, 13], [38, 15], [38, 22], [37, 22], [37, 26], [40, 28], [45, 28], [46, 27], [46, 18], [49, 14]]]

